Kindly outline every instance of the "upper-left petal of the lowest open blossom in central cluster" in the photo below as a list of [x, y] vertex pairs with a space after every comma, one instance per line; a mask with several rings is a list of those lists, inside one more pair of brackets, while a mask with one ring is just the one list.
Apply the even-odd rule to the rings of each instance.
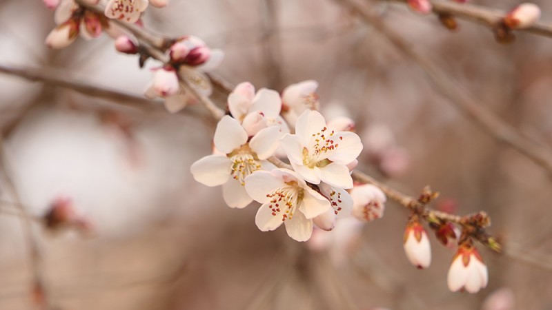
[[[266, 195], [275, 189], [286, 186], [284, 180], [268, 171], [256, 171], [245, 178], [247, 194], [258, 203], [268, 203]], [[280, 218], [282, 220], [282, 218]]]

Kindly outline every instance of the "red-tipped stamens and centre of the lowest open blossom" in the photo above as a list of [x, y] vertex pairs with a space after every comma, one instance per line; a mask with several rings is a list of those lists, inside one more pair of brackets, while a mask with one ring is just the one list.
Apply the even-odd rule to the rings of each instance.
[[275, 189], [266, 197], [270, 198], [268, 207], [272, 210], [273, 216], [282, 214], [282, 222], [290, 220], [295, 214], [297, 205], [302, 202], [305, 193], [304, 189], [297, 185], [297, 182], [286, 182], [286, 187]]

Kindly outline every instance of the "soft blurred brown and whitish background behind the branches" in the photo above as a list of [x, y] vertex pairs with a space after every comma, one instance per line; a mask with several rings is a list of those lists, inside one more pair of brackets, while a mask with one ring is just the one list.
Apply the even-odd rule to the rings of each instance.
[[[517, 4], [472, 2], [501, 10]], [[552, 20], [550, 1], [533, 2]], [[375, 5], [480, 105], [552, 145], [551, 39], [519, 33], [500, 45], [473, 23], [450, 32], [434, 16]], [[144, 24], [223, 49], [216, 73], [233, 84], [282, 91], [319, 81], [323, 112], [357, 122], [360, 169], [413, 196], [431, 185], [441, 193], [433, 207], [488, 212], [507, 255], [480, 247], [489, 286], [451, 293], [454, 250], [431, 236], [431, 267], [412, 267], [402, 247], [408, 213], [392, 201], [382, 219], [342, 225], [306, 244], [284, 229], [263, 233], [257, 205], [230, 209], [219, 187], [190, 174], [211, 151], [215, 124], [201, 107], [168, 114], [161, 102], [124, 106], [0, 74], [6, 169], [21, 203], [34, 223], [68, 197], [90, 226], [82, 234], [32, 225], [42, 287], [56, 309], [552, 309], [551, 179], [464, 117], [355, 14], [331, 0], [172, 0], [166, 9], [148, 8]], [[48, 50], [43, 41], [54, 26], [42, 1], [0, 1], [0, 65], [137, 96], [159, 65], [148, 61], [140, 70], [105, 35]], [[215, 98], [223, 107], [224, 97]], [[39, 296], [8, 187], [0, 201], [0, 309], [32, 309], [32, 291]]]

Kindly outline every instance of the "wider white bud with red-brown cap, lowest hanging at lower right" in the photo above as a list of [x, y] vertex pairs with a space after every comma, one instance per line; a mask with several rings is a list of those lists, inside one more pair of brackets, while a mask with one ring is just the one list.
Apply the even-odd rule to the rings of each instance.
[[453, 258], [447, 284], [451, 291], [466, 289], [469, 293], [477, 293], [487, 286], [489, 273], [483, 258], [471, 241], [458, 247]]

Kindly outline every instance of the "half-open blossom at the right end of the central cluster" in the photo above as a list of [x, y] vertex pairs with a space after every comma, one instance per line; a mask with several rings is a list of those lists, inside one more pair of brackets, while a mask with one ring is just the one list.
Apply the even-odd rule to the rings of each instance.
[[371, 184], [356, 185], [351, 189], [353, 197], [353, 216], [359, 220], [371, 222], [382, 218], [387, 200], [381, 189]]

